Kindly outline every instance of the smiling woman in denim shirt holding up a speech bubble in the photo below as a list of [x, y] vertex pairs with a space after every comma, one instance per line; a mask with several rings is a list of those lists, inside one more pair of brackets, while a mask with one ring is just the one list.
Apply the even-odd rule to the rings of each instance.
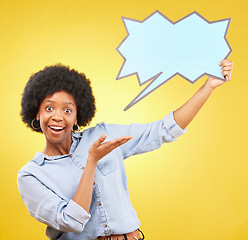
[[[231, 79], [232, 62], [220, 63]], [[123, 160], [176, 140], [224, 82], [206, 83], [176, 111], [149, 124], [89, 124], [95, 99], [84, 74], [55, 65], [32, 75], [24, 89], [23, 122], [46, 138], [43, 152], [18, 172], [29, 213], [47, 225], [50, 239], [144, 239], [129, 200]]]

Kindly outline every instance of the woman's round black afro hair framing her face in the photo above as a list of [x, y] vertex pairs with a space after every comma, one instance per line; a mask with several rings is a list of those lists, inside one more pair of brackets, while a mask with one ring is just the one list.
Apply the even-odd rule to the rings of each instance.
[[27, 127], [33, 131], [42, 132], [40, 128], [32, 127], [32, 121], [36, 119], [42, 101], [61, 90], [70, 93], [75, 99], [78, 126], [86, 126], [91, 122], [96, 106], [90, 80], [83, 73], [62, 64], [56, 64], [32, 74], [24, 88], [21, 118]]

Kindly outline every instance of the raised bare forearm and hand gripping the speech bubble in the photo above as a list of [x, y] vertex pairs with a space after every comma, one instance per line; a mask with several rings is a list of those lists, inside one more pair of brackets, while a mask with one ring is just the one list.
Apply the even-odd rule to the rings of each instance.
[[[222, 75], [229, 81], [231, 79], [233, 63], [230, 60], [225, 59], [221, 61], [219, 65], [222, 68]], [[174, 111], [174, 119], [177, 124], [182, 129], [186, 128], [205, 104], [212, 92], [223, 83], [224, 81], [222, 80], [209, 77], [205, 84], [185, 104]]]

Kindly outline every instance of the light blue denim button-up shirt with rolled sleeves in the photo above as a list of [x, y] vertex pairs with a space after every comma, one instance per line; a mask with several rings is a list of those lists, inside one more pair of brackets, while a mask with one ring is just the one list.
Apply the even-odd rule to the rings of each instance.
[[[37, 152], [18, 172], [17, 183], [30, 215], [46, 224], [50, 239], [94, 240], [98, 236], [123, 234], [139, 228], [130, 202], [123, 160], [131, 155], [172, 142], [182, 130], [173, 112], [163, 120], [131, 125], [97, 124], [72, 133], [68, 155], [46, 156]], [[96, 168], [89, 214], [72, 200], [86, 165], [88, 150], [102, 134], [106, 141], [133, 136], [129, 142], [102, 158]]]

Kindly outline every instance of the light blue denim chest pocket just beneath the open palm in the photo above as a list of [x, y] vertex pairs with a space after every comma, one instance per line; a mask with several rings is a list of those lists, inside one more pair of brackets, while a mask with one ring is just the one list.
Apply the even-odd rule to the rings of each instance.
[[100, 172], [106, 176], [116, 170], [116, 151], [112, 151], [105, 157], [99, 160], [97, 164], [97, 168], [100, 170]]

